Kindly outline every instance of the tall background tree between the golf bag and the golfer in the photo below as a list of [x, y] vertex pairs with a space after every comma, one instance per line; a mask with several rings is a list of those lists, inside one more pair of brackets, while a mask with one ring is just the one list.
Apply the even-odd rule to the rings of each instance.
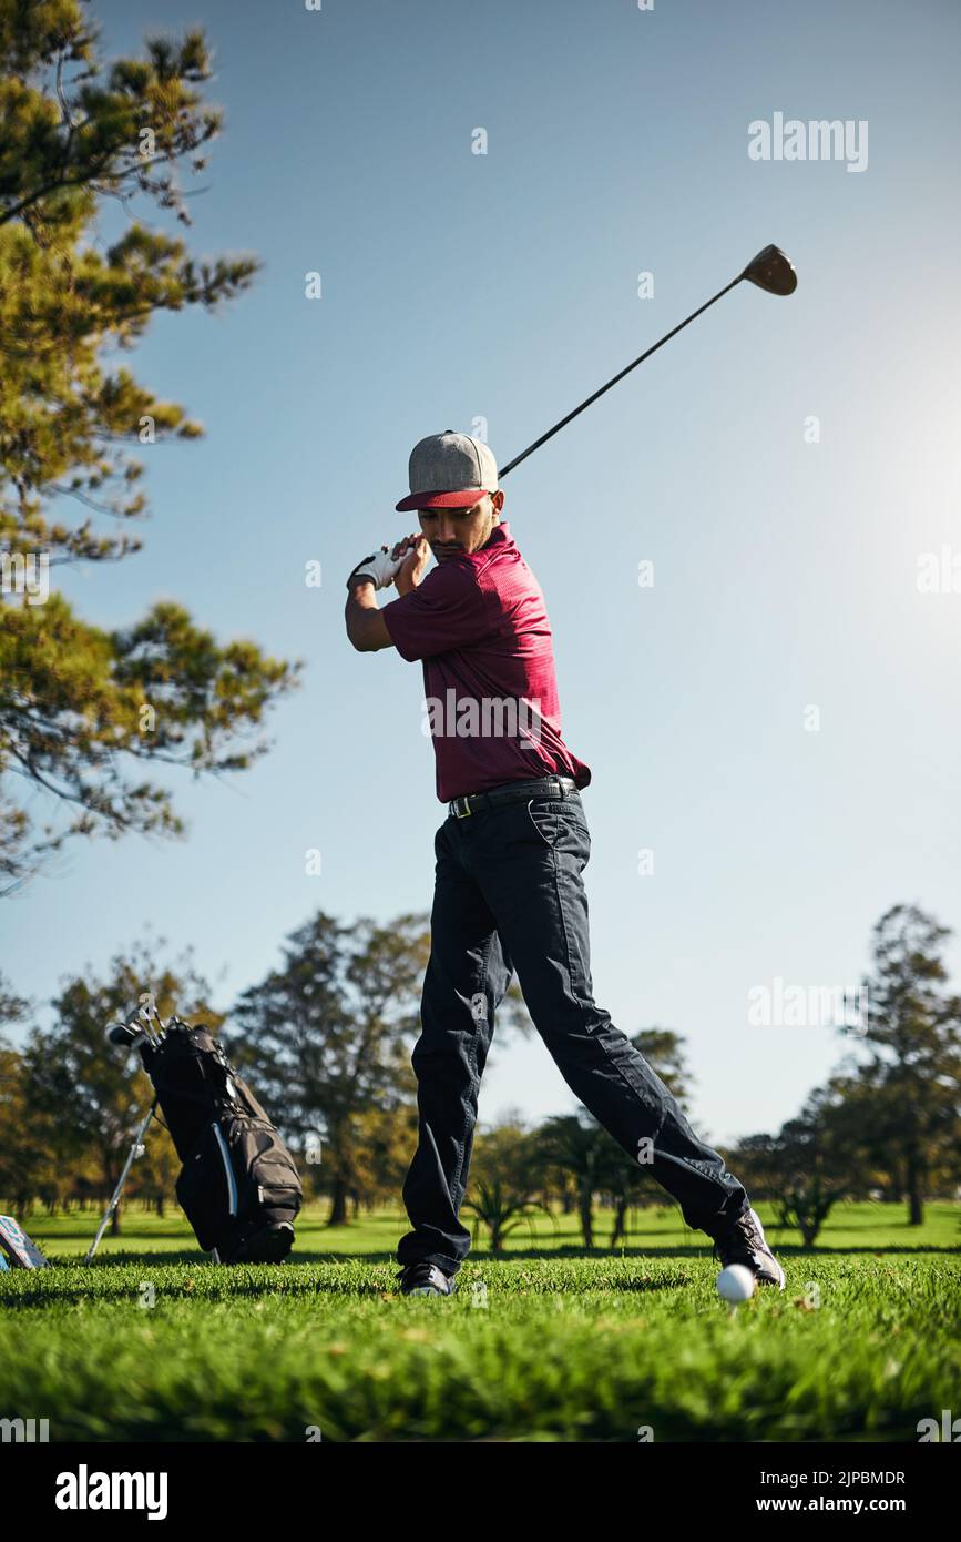
[[[424, 916], [347, 927], [319, 911], [283, 961], [231, 1012], [231, 1053], [297, 1141], [343, 1226], [362, 1186], [365, 1119], [413, 1104], [410, 1047], [420, 1025], [430, 936]], [[322, 1160], [311, 1161], [320, 1140]]]

